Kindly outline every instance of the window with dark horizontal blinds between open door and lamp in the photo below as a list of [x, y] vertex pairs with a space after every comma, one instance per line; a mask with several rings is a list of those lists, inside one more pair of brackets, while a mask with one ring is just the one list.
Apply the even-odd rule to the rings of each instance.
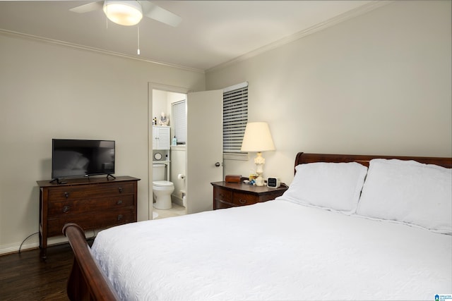
[[223, 158], [248, 160], [241, 152], [242, 140], [248, 121], [248, 82], [223, 90]]

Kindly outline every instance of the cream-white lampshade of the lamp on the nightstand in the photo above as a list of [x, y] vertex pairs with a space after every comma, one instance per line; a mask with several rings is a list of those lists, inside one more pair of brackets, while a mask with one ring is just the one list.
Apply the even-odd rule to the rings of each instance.
[[275, 150], [270, 129], [266, 122], [246, 123], [242, 152], [266, 152]]

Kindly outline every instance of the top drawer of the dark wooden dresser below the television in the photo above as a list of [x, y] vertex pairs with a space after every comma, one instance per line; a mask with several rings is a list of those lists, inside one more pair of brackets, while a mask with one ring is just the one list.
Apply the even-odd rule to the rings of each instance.
[[87, 189], [86, 185], [73, 185], [49, 189], [49, 199], [53, 202], [59, 200], [69, 199], [90, 199], [93, 197], [108, 197], [119, 196], [126, 194], [133, 194], [133, 183], [107, 183], [90, 186]]

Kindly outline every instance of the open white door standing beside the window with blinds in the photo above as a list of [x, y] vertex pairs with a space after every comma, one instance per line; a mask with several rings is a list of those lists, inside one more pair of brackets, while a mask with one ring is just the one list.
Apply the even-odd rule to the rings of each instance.
[[189, 93], [186, 102], [187, 213], [213, 209], [211, 182], [222, 180], [222, 90]]

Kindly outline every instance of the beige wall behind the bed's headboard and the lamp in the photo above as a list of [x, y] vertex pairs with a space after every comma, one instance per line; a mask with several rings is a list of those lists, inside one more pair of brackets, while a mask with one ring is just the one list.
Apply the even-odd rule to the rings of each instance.
[[290, 183], [297, 152], [451, 156], [451, 1], [394, 1], [206, 73], [208, 90], [244, 81], [275, 142], [264, 176]]

